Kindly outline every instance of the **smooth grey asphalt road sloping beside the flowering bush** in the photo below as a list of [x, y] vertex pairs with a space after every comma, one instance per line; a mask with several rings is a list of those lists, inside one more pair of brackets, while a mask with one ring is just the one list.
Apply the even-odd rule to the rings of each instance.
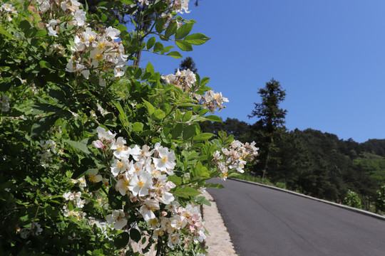
[[[210, 180], [241, 256], [384, 256], [385, 221], [240, 181]], [[225, 256], [225, 255], [224, 255]]]

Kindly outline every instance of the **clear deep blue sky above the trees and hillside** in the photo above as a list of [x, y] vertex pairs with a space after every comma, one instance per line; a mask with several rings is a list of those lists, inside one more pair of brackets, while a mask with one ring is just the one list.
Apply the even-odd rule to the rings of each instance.
[[[184, 18], [211, 40], [191, 56], [207, 86], [230, 102], [217, 114], [254, 123], [247, 114], [271, 78], [287, 96], [289, 130], [318, 129], [356, 142], [385, 138], [384, 0], [201, 0]], [[144, 54], [173, 73], [183, 59]]]

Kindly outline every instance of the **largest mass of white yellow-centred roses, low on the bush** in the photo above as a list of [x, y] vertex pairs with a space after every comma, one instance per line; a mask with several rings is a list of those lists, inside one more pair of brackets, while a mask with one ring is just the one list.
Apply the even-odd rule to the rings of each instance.
[[[205, 228], [199, 208], [181, 207], [170, 193], [175, 188], [175, 184], [168, 181], [168, 175], [174, 174], [176, 165], [174, 151], [160, 146], [160, 143], [155, 144], [154, 149], [147, 145], [130, 148], [125, 145], [123, 137], [115, 139], [116, 134], [102, 127], [98, 127], [97, 132], [98, 140], [93, 142], [93, 146], [113, 153], [111, 174], [116, 178], [116, 191], [129, 196], [136, 206], [136, 213], [153, 230], [154, 238], [167, 235], [168, 246], [174, 247], [180, 242], [180, 230], [184, 229], [193, 236], [194, 242], [202, 242]], [[127, 228], [128, 220], [123, 209], [113, 210], [106, 220], [113, 228]]]

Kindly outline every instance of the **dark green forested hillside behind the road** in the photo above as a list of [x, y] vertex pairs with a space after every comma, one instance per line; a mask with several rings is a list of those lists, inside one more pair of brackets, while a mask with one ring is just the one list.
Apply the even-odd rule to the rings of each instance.
[[[255, 141], [258, 145], [265, 140], [258, 122], [247, 124], [227, 118], [222, 123], [205, 122], [201, 127], [215, 134], [223, 130], [241, 142]], [[260, 147], [261, 155], [264, 151]], [[262, 176], [263, 168], [259, 161], [248, 171]], [[285, 183], [293, 191], [336, 202], [343, 201], [351, 190], [369, 209], [376, 191], [385, 184], [385, 139], [357, 143], [314, 129], [287, 131], [282, 127], [270, 146], [265, 177], [272, 183]]]

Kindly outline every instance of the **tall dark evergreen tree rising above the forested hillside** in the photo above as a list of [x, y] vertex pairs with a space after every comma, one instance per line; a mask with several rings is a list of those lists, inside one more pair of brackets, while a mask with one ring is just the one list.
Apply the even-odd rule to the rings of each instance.
[[[258, 117], [259, 121], [254, 125], [255, 133], [262, 135], [263, 139], [260, 141], [260, 168], [262, 167], [262, 178], [265, 178], [265, 172], [267, 171], [270, 161], [277, 161], [272, 159], [270, 153], [275, 151], [274, 139], [279, 139], [280, 134], [284, 132], [284, 117], [287, 110], [279, 108], [279, 102], [284, 100], [286, 92], [282, 90], [278, 81], [270, 80], [266, 82], [266, 86], [261, 88], [258, 93], [260, 94], [261, 103], [254, 103], [255, 110], [248, 116], [249, 118]], [[258, 165], [257, 165], [258, 166]]]

